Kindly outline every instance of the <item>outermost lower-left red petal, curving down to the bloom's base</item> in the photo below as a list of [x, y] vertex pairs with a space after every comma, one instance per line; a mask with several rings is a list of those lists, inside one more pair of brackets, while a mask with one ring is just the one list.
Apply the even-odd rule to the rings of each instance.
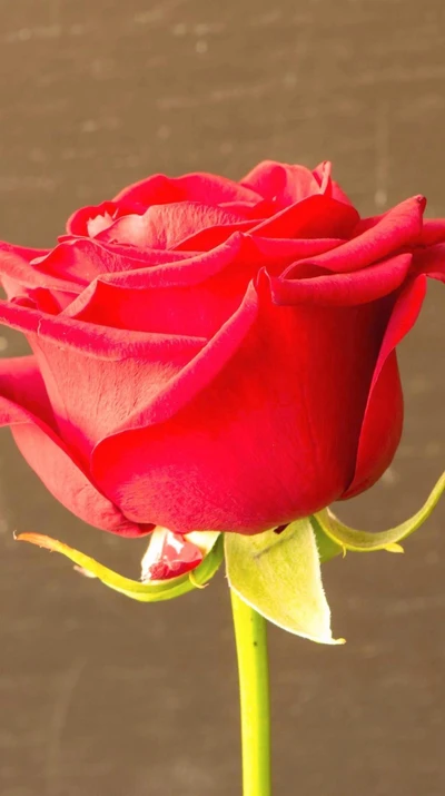
[[55, 498], [91, 525], [127, 537], [147, 533], [101, 494], [58, 436], [34, 357], [0, 360], [0, 425], [11, 425], [23, 458]]

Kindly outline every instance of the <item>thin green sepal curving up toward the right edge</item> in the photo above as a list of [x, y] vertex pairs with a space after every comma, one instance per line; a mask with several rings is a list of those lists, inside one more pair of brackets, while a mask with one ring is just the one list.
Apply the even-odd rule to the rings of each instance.
[[445, 473], [441, 475], [422, 509], [409, 520], [402, 522], [400, 525], [390, 528], [388, 531], [369, 533], [367, 531], [357, 531], [354, 528], [348, 528], [348, 525], [344, 525], [329, 509], [319, 511], [315, 514], [315, 519], [324, 533], [332, 539], [333, 542], [339, 544], [343, 550], [353, 550], [354, 552], [373, 552], [375, 550], [403, 552], [399, 542], [423, 525], [444, 491]]

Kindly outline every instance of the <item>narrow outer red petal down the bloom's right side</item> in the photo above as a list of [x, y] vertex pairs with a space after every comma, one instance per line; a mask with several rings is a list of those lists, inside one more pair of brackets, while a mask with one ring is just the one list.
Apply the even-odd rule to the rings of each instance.
[[403, 395], [396, 346], [417, 321], [426, 292], [426, 277], [409, 281], [399, 294], [383, 338], [366, 404], [354, 478], [344, 499], [372, 487], [389, 466], [403, 425]]

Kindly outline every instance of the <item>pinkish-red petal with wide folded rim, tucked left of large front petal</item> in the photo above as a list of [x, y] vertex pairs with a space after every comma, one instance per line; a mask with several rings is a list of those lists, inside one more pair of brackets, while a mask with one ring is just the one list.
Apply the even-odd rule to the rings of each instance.
[[145, 405], [202, 348], [204, 340], [121, 330], [0, 302], [0, 323], [28, 337], [58, 428], [82, 458]]

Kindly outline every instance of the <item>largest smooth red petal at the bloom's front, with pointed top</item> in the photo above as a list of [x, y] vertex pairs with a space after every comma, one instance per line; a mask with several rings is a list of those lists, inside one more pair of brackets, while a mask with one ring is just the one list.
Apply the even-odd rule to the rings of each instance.
[[146, 410], [96, 448], [126, 515], [177, 532], [259, 532], [350, 481], [387, 303], [276, 307], [263, 283]]

